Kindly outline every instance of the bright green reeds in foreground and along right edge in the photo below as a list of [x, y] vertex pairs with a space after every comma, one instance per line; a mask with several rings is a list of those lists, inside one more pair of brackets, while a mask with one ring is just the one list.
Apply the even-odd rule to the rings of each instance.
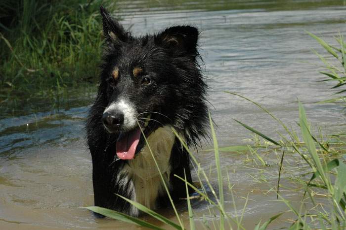
[[[340, 39], [338, 39], [339, 43], [341, 44], [341, 48], [335, 48], [330, 45], [328, 45], [326, 42], [324, 42], [319, 37], [313, 35], [310, 33], [312, 37], [314, 37], [333, 57], [337, 58], [340, 63], [342, 64], [342, 68], [337, 68], [334, 65], [329, 64], [325, 61], [322, 56], [319, 55], [321, 60], [326, 65], [326, 68], [330, 72], [321, 72], [324, 75], [327, 75], [331, 77], [332, 80], [336, 80], [338, 84], [336, 87], [345, 86], [344, 81], [345, 78], [345, 72], [346, 72], [346, 64], [344, 62], [345, 60], [345, 43], [343, 41], [343, 37], [340, 36]], [[339, 52], [340, 54], [338, 54]], [[343, 75], [341, 75], [343, 74]], [[324, 81], [326, 82], [326, 81]], [[336, 88], [334, 87], [334, 88]], [[345, 91], [340, 91], [337, 94], [342, 94]], [[219, 159], [219, 151], [228, 151], [228, 152], [239, 152], [243, 151], [242, 154], [246, 154], [247, 156], [249, 153], [253, 157], [252, 162], [254, 164], [261, 164], [263, 167], [268, 167], [269, 165], [266, 163], [266, 161], [263, 159], [265, 152], [269, 153], [281, 153], [281, 157], [277, 159], [277, 164], [279, 165], [278, 170], [278, 182], [277, 182], [277, 189], [276, 194], [279, 201], [283, 202], [287, 206], [287, 211], [278, 213], [277, 215], [274, 215], [273, 217], [269, 218], [269, 220], [262, 223], [262, 221], [259, 221], [257, 226], [255, 227], [256, 230], [265, 230], [270, 225], [270, 223], [276, 219], [282, 218], [285, 213], [291, 213], [295, 219], [291, 220], [289, 224], [287, 222], [279, 222], [283, 224], [283, 227], [287, 227], [290, 230], [309, 230], [309, 229], [345, 229], [346, 228], [346, 164], [344, 163], [344, 159], [346, 159], [346, 142], [345, 137], [346, 133], [341, 133], [338, 135], [332, 135], [328, 137], [323, 137], [322, 134], [316, 137], [313, 133], [313, 129], [308, 122], [308, 119], [305, 114], [305, 110], [303, 107], [303, 104], [299, 102], [299, 123], [298, 127], [300, 128], [300, 134], [298, 135], [296, 131], [289, 129], [279, 118], [275, 117], [272, 113], [270, 113], [267, 109], [263, 108], [259, 103], [252, 101], [251, 99], [247, 99], [243, 96], [240, 96], [235, 93], [231, 92], [225, 92], [229, 93], [231, 95], [241, 97], [247, 101], [250, 101], [257, 105], [261, 110], [263, 110], [266, 114], [268, 114], [271, 119], [273, 119], [275, 122], [278, 123], [279, 126], [281, 126], [285, 133], [279, 133], [281, 136], [281, 140], [274, 140], [275, 138], [268, 137], [267, 135], [263, 134], [262, 132], [255, 130], [254, 128], [241, 123], [240, 121], [237, 121], [240, 125], [242, 125], [244, 128], [248, 129], [249, 131], [255, 133], [255, 143], [254, 146], [248, 146], [248, 152], [244, 153], [244, 146], [229, 146], [229, 147], [223, 147], [219, 148], [216, 140], [215, 130], [213, 127], [212, 120], [210, 118], [210, 125], [211, 125], [211, 133], [213, 137], [213, 143], [214, 143], [214, 153], [215, 153], [215, 162], [216, 162], [216, 170], [217, 170], [217, 179], [218, 179], [218, 192], [219, 195], [216, 194], [215, 189], [211, 185], [210, 178], [207, 176], [207, 173], [205, 172], [204, 168], [201, 167], [201, 164], [197, 161], [195, 156], [190, 152], [190, 150], [187, 148], [186, 143], [183, 141], [183, 139], [173, 130], [177, 138], [180, 140], [184, 148], [189, 152], [193, 167], [195, 169], [195, 172], [197, 174], [200, 188], [198, 189], [195, 185], [192, 185], [186, 181], [185, 178], [180, 178], [181, 180], [185, 181], [186, 185], [186, 191], [188, 191], [188, 186], [191, 187], [193, 190], [195, 190], [196, 193], [199, 194], [200, 198], [204, 199], [209, 203], [207, 206], [209, 213], [211, 216], [214, 216], [214, 218], [211, 218], [211, 220], [208, 222], [202, 223], [202, 225], [205, 227], [205, 229], [210, 229], [211, 225], [214, 229], [245, 229], [243, 226], [243, 215], [244, 210], [247, 205], [247, 202], [251, 197], [246, 197], [245, 205], [242, 209], [237, 208], [234, 206], [234, 210], [236, 213], [240, 213], [240, 215], [232, 216], [229, 213], [225, 211], [224, 207], [224, 201], [223, 196], [224, 193], [229, 193], [233, 197], [233, 186], [228, 180], [228, 186], [227, 190], [223, 190], [223, 180], [222, 180], [222, 173], [221, 167], [220, 167], [220, 159]], [[344, 99], [344, 98], [342, 98]], [[330, 100], [335, 101], [335, 100]], [[326, 101], [325, 101], [326, 102]], [[259, 136], [263, 138], [264, 142], [259, 139]], [[261, 148], [264, 147], [264, 151], [261, 151]], [[297, 164], [296, 170], [299, 171], [300, 169], [303, 169], [305, 172], [303, 175], [300, 174], [299, 176], [291, 176], [285, 177], [285, 180], [290, 180], [294, 186], [291, 185], [290, 188], [287, 188], [286, 185], [283, 185], [281, 183], [281, 177], [283, 176], [283, 164], [284, 159], [298, 156], [299, 162], [303, 164]], [[297, 160], [296, 160], [297, 161]], [[227, 172], [227, 177], [228, 172]], [[264, 181], [265, 178], [263, 179]], [[163, 181], [164, 182], [164, 181]], [[206, 192], [205, 188], [209, 188], [212, 192], [213, 197], [209, 197], [208, 193]], [[291, 200], [285, 198], [281, 192], [280, 189], [288, 189], [292, 192], [301, 191], [303, 193], [300, 197], [300, 208], [298, 209], [296, 206], [292, 203]], [[167, 191], [168, 192], [168, 191]], [[269, 192], [274, 192], [272, 188], [268, 190]], [[321, 199], [320, 197], [324, 197]], [[125, 197], [123, 197], [125, 198]], [[149, 210], [148, 208], [144, 207], [143, 205], [136, 203], [134, 201], [131, 201], [127, 198], [125, 198], [128, 202], [130, 202], [132, 205], [136, 206], [139, 210], [141, 210], [144, 213], [147, 213], [148, 215], [152, 216], [153, 218], [160, 221], [165, 226], [170, 226], [173, 229], [182, 230], [185, 229], [186, 226], [184, 226], [183, 221], [181, 220], [179, 214], [176, 212], [176, 208], [173, 205], [176, 219], [179, 224], [176, 224], [172, 222], [171, 220], [168, 220], [167, 218], [163, 217], [162, 215]], [[194, 230], [196, 228], [196, 223], [194, 220], [194, 211], [191, 207], [190, 198], [187, 198], [187, 206], [188, 206], [188, 215], [189, 215], [189, 223], [190, 223], [190, 229]], [[138, 226], [143, 226], [151, 229], [165, 229], [166, 227], [159, 227], [156, 225], [152, 225], [148, 222], [145, 222], [138, 218], [133, 218], [130, 216], [127, 216], [122, 213], [118, 213], [112, 210], [107, 210], [99, 207], [88, 207], [89, 210], [92, 210], [94, 212], [103, 214], [105, 216], [125, 221], [131, 224], [135, 224]], [[282, 220], [282, 219], [281, 219]], [[283, 219], [284, 220], [284, 219]], [[210, 223], [211, 222], [211, 223]]]

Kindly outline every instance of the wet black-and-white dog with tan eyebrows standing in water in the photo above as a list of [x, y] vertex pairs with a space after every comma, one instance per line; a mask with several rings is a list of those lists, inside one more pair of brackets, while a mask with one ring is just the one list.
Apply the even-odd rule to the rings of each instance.
[[133, 36], [102, 6], [100, 12], [100, 84], [86, 124], [94, 204], [138, 216], [118, 195], [156, 209], [169, 203], [162, 178], [173, 201], [186, 197], [185, 182], [174, 175], [192, 183], [189, 154], [173, 130], [188, 146], [208, 136], [199, 32], [183, 25]]

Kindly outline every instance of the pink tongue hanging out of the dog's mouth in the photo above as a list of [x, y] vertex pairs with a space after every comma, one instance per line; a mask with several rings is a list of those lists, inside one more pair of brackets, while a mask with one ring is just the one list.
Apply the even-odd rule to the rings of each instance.
[[123, 134], [117, 140], [117, 156], [122, 160], [131, 160], [134, 157], [140, 138], [140, 129], [137, 128], [129, 133]]

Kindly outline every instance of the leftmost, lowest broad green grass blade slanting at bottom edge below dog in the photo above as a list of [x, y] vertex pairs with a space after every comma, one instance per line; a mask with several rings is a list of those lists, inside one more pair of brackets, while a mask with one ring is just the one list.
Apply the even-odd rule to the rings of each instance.
[[88, 210], [96, 212], [98, 214], [104, 215], [106, 217], [110, 217], [119, 221], [123, 221], [129, 224], [134, 224], [137, 226], [141, 226], [141, 227], [145, 227], [145, 228], [149, 228], [149, 229], [154, 229], [154, 230], [163, 230], [160, 227], [150, 224], [148, 222], [142, 221], [138, 218], [126, 215], [124, 213], [121, 212], [117, 212], [117, 211], [113, 211], [107, 208], [101, 208], [101, 207], [97, 207], [97, 206], [90, 206], [90, 207], [86, 207]]

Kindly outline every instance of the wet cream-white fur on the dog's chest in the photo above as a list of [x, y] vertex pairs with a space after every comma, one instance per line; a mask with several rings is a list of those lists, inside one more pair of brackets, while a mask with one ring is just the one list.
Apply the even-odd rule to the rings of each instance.
[[[124, 166], [121, 174], [126, 174], [127, 177], [121, 181], [118, 180], [118, 183], [122, 185], [131, 179], [130, 189], [132, 191], [130, 194], [132, 200], [154, 209], [158, 195], [166, 193], [153, 156], [166, 184], [169, 186], [168, 182], [171, 173], [169, 161], [174, 137], [174, 133], [169, 126], [157, 129], [147, 137], [151, 152], [145, 144], [137, 156]], [[133, 206], [131, 206], [131, 214], [138, 215], [138, 210]]]

